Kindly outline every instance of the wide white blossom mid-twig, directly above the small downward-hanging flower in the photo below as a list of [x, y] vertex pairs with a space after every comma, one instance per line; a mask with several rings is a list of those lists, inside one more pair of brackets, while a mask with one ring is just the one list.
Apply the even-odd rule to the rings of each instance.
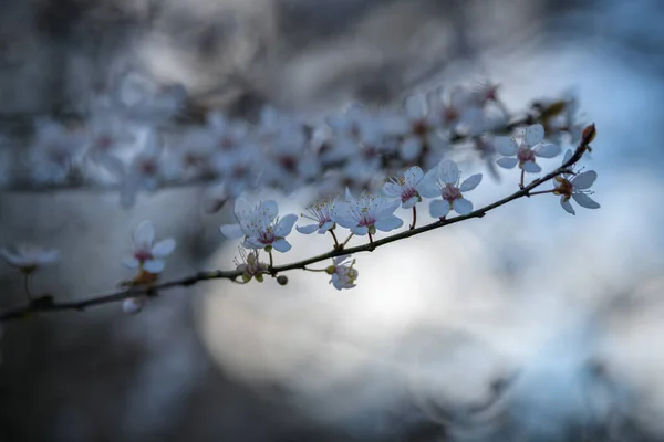
[[355, 199], [346, 189], [346, 200], [338, 206], [336, 223], [350, 229], [356, 235], [374, 234], [376, 230], [388, 232], [403, 225], [403, 221], [394, 215], [400, 201], [362, 193]]

